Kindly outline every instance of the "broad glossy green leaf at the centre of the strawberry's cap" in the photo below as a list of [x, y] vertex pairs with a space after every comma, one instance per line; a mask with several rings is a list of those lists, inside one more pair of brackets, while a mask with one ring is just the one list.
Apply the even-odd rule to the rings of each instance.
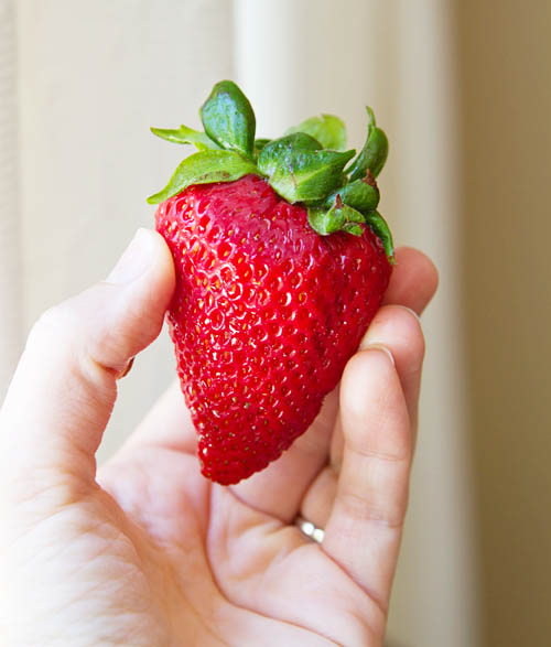
[[270, 185], [290, 203], [325, 198], [343, 181], [343, 169], [355, 151], [321, 150], [321, 143], [303, 132], [268, 143], [258, 168]]

